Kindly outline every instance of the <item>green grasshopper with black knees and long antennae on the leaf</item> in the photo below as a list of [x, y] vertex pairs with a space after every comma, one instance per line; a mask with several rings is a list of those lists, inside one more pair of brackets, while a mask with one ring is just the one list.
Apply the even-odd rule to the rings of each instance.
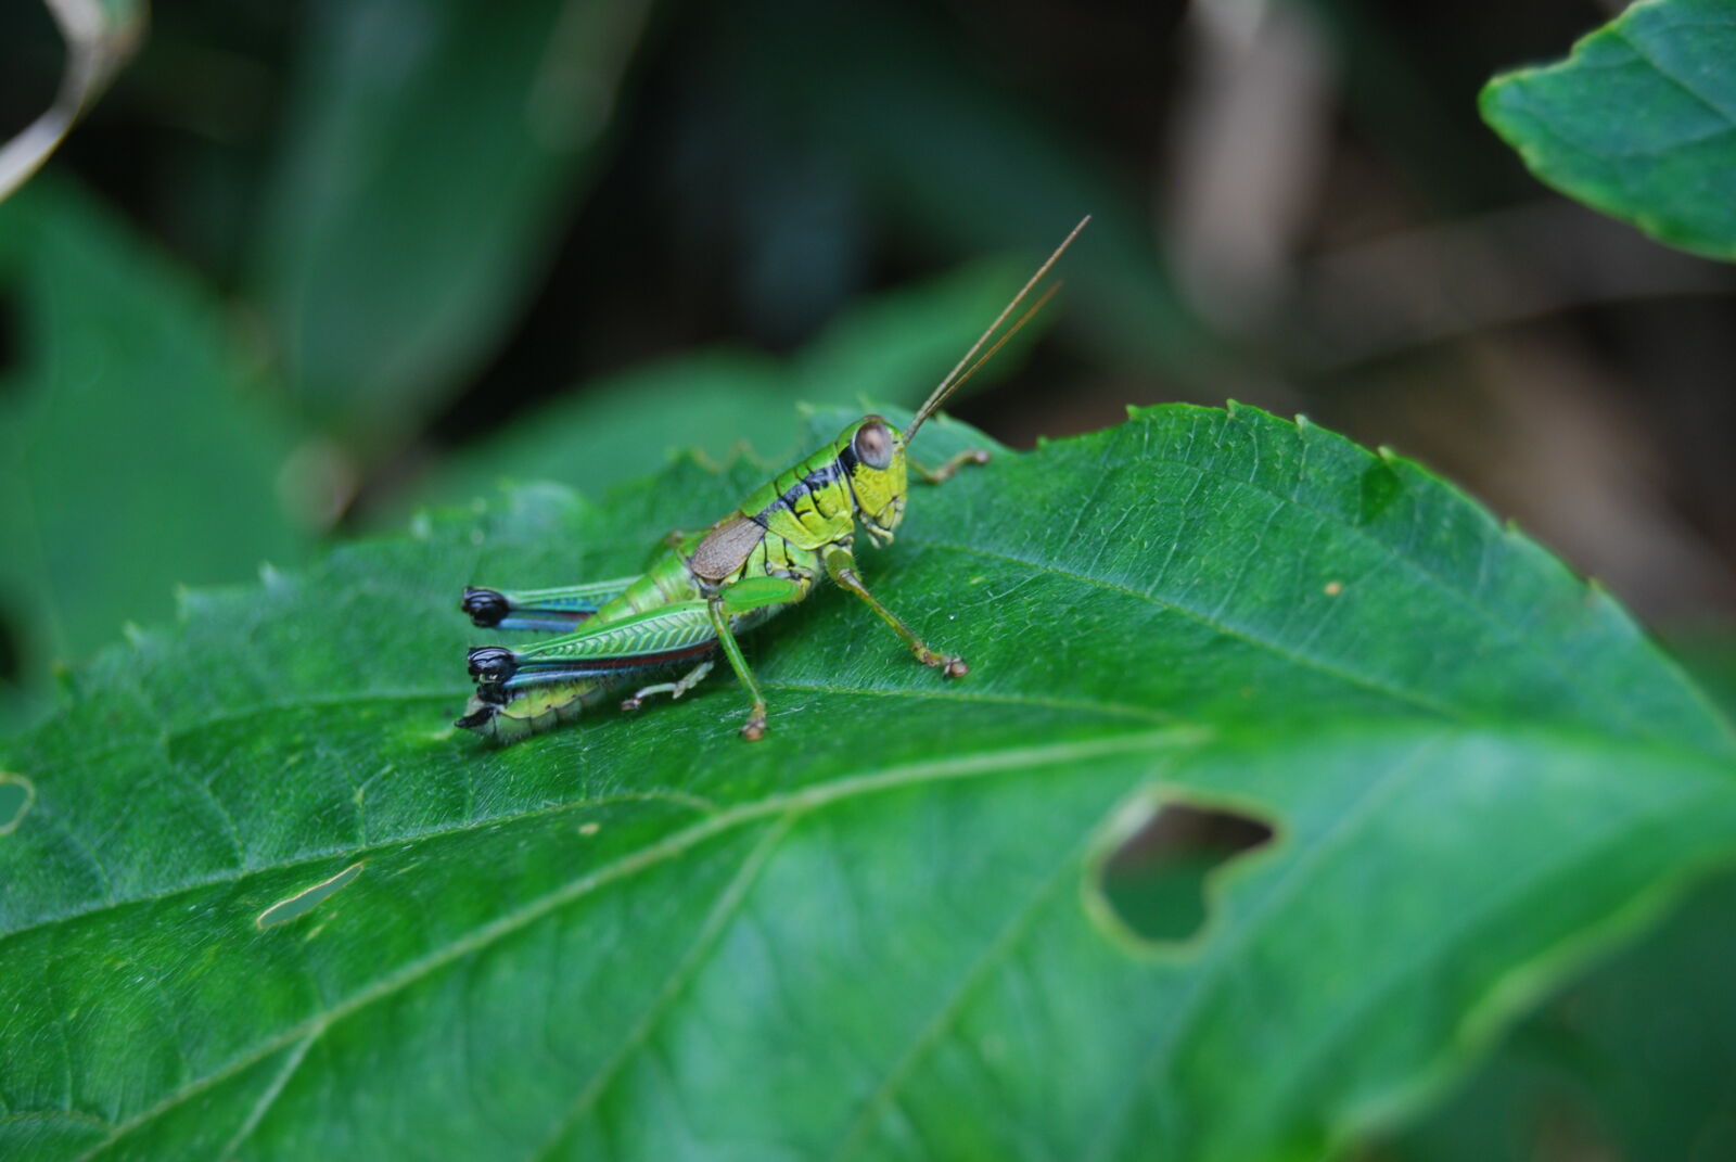
[[524, 650], [470, 650], [476, 693], [457, 726], [502, 743], [516, 742], [578, 717], [634, 681], [689, 667], [675, 681], [642, 686], [621, 709], [637, 710], [653, 695], [681, 698], [712, 670], [722, 650], [753, 700], [741, 736], [762, 738], [766, 695], [736, 636], [807, 598], [821, 571], [861, 598], [918, 662], [946, 677], [963, 677], [969, 672], [963, 658], [929, 648], [863, 585], [852, 552], [856, 525], [875, 545], [885, 545], [904, 519], [910, 472], [937, 485], [963, 464], [988, 462], [988, 452], [970, 450], [927, 469], [904, 450], [924, 420], [1042, 309], [1055, 288], [972, 363], [1088, 221], [1055, 247], [903, 432], [878, 415], [865, 415], [830, 445], [755, 488], [710, 528], [672, 533], [667, 551], [639, 577], [517, 592], [465, 589], [460, 608], [474, 625], [571, 632]]

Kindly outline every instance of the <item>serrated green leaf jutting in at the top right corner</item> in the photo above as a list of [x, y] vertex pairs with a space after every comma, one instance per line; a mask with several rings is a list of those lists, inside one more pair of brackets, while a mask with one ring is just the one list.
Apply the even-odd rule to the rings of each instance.
[[1641, 0], [1483, 116], [1540, 179], [1658, 241], [1736, 259], [1736, 3]]

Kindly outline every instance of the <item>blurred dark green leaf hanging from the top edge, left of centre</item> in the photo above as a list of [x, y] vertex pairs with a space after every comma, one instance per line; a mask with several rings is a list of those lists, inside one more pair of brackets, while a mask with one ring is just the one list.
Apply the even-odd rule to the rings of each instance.
[[292, 384], [352, 443], [411, 431], [535, 290], [648, 9], [314, 5], [257, 281]]

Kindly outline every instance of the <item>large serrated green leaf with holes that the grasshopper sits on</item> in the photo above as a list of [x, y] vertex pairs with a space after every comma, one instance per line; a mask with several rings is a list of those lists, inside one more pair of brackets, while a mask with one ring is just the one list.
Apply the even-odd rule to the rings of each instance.
[[[1608, 596], [1250, 408], [913, 495], [870, 584], [962, 683], [823, 591], [752, 639], [762, 743], [727, 681], [446, 726], [458, 585], [630, 570], [750, 483], [191, 594], [0, 743], [0, 1153], [1316, 1157], [1736, 848], [1729, 730]], [[1094, 881], [1168, 799], [1278, 839], [1153, 948]]]

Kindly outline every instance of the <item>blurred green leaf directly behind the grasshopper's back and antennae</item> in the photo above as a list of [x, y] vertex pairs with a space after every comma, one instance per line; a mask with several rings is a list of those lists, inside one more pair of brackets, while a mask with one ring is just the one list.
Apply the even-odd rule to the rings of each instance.
[[[760, 462], [781, 467], [814, 446], [809, 432], [799, 431], [797, 399], [851, 405], [851, 419], [861, 415], [865, 399], [915, 406], [1028, 274], [1019, 264], [977, 262], [866, 299], [788, 361], [715, 349], [635, 366], [460, 448], [422, 483], [418, 498], [469, 500], [502, 476], [599, 492], [654, 469], [672, 450], [722, 462], [746, 446]], [[1017, 366], [1021, 346], [1038, 333], [1042, 318], [965, 391]], [[837, 427], [821, 439], [832, 439]]]

